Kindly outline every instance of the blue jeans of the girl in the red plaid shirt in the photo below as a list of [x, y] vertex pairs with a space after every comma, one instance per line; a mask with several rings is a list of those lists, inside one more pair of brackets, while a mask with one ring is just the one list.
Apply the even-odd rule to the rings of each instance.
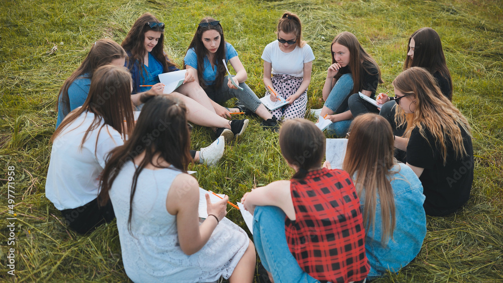
[[285, 236], [285, 213], [278, 207], [256, 207], [253, 217], [255, 248], [264, 268], [273, 274], [275, 283], [319, 282], [300, 268]]

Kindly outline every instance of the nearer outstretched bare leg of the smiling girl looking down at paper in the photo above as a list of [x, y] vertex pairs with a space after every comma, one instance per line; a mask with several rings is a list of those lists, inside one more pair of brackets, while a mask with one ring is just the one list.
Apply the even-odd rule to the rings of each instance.
[[195, 100], [186, 97], [178, 92], [172, 92], [168, 96], [174, 96], [185, 103], [187, 107], [187, 120], [190, 122], [210, 128], [227, 128], [230, 129], [229, 120], [218, 116], [214, 111], [204, 108]]

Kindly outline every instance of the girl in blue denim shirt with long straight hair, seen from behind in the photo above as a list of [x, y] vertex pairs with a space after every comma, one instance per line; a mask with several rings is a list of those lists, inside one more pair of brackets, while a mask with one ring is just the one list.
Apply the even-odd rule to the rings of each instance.
[[419, 253], [425, 239], [423, 185], [411, 168], [396, 163], [386, 119], [360, 115], [350, 133], [343, 169], [353, 176], [363, 208], [368, 277], [398, 272]]

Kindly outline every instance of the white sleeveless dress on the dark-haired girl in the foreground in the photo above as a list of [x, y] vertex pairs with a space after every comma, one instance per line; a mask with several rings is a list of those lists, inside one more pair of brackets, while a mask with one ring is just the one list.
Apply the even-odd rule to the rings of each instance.
[[129, 278], [135, 282], [199, 282], [216, 281], [221, 275], [229, 277], [234, 269], [229, 266], [235, 266], [241, 258], [248, 246], [248, 236], [224, 218], [201, 250], [186, 255], [179, 245], [177, 218], [166, 210], [172, 182], [182, 173], [174, 167], [144, 168], [140, 173], [133, 199], [132, 235], [129, 233], [129, 198], [134, 171], [133, 163], [126, 163], [110, 190], [124, 269]]

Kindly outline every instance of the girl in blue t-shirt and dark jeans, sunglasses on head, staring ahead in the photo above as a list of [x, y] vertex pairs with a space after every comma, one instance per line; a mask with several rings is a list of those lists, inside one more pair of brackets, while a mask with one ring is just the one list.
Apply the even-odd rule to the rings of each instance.
[[[238, 89], [228, 80], [222, 60], [225, 60], [225, 64], [229, 62], [232, 65], [236, 71], [232, 80], [243, 90]], [[230, 117], [230, 111], [240, 111], [239, 109], [229, 110], [219, 105], [219, 103], [234, 97], [247, 109], [264, 119], [265, 121], [262, 123], [264, 127], [275, 129], [276, 119], [260, 102], [255, 92], [244, 83], [248, 76], [246, 70], [234, 47], [224, 40], [223, 29], [219, 21], [210, 17], [201, 20], [187, 49], [184, 61], [185, 68], [194, 72], [195, 80], [206, 91], [217, 114]]]

